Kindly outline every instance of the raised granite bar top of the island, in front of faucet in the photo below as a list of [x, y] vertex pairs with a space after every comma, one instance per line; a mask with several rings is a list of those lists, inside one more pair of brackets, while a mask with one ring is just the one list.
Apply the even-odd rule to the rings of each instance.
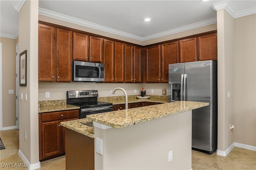
[[87, 115], [87, 119], [110, 127], [121, 128], [161, 117], [208, 106], [209, 103], [178, 101]]

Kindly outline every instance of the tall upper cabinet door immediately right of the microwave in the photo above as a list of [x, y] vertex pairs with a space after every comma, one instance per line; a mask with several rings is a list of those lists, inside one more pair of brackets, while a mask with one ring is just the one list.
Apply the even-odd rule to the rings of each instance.
[[104, 39], [105, 81], [114, 82], [114, 41]]

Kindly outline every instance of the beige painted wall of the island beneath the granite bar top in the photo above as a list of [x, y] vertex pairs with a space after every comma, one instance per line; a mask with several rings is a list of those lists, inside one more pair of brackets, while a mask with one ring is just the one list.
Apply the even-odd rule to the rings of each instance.
[[[103, 143], [102, 155], [95, 149], [97, 170], [192, 169], [192, 111], [123, 128], [94, 127], [96, 137]], [[172, 161], [168, 162], [171, 150]]]

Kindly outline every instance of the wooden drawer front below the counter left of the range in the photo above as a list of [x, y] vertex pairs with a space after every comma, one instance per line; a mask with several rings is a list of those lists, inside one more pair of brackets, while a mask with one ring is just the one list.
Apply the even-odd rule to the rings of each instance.
[[68, 110], [68, 111], [56, 111], [51, 113], [43, 113], [42, 121], [53, 121], [53, 120], [61, 120], [61, 119], [70, 119], [77, 117], [78, 118], [78, 109], [76, 110]]

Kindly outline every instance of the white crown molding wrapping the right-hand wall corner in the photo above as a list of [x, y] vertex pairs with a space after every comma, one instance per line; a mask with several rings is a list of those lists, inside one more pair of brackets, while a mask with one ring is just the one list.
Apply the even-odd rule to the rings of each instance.
[[256, 7], [249, 8], [247, 10], [237, 11], [236, 8], [229, 1], [222, 1], [212, 5], [212, 9], [218, 11], [225, 9], [233, 18], [239, 18], [243, 16], [248, 16], [251, 14], [256, 14]]

